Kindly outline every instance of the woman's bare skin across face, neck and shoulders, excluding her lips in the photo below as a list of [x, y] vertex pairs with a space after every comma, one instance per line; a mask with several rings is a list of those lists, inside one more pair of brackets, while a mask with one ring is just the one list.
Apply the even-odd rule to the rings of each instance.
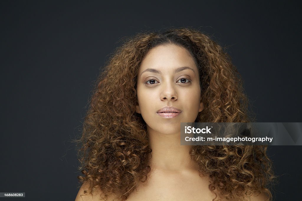
[[[127, 200], [214, 199], [215, 194], [208, 188], [210, 178], [201, 175], [191, 162], [191, 146], [180, 145], [180, 123], [194, 122], [204, 108], [198, 69], [190, 53], [176, 45], [151, 49], [139, 68], [137, 99], [136, 112], [147, 124], [152, 149], [151, 171], [147, 182], [139, 184]], [[157, 111], [165, 106], [173, 106], [181, 112], [174, 118], [163, 118]], [[82, 185], [76, 201], [99, 200], [100, 190], [93, 196], [83, 195], [87, 185]], [[262, 195], [250, 200], [265, 199]]]

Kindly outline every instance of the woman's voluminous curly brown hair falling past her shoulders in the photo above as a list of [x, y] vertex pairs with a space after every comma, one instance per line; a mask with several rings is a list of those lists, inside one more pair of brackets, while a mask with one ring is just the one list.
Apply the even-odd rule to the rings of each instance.
[[[135, 112], [137, 74], [146, 53], [161, 44], [187, 49], [195, 59], [204, 110], [196, 122], [250, 122], [243, 83], [230, 56], [209, 36], [192, 28], [164, 33], [139, 33], [125, 40], [111, 56], [95, 84], [82, 127], [80, 182], [89, 192], [101, 189], [103, 199], [114, 193], [127, 199], [150, 172], [146, 123]], [[201, 173], [211, 179], [215, 199], [272, 195], [274, 175], [267, 146], [193, 146], [189, 154]], [[87, 191], [85, 191], [87, 192]]]

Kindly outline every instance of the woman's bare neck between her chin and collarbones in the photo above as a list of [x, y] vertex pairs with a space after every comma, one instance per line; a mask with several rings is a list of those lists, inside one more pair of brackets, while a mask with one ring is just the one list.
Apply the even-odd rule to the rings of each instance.
[[180, 145], [180, 132], [163, 134], [148, 129], [148, 136], [152, 149], [151, 168], [180, 171], [193, 167], [189, 155], [192, 146]]

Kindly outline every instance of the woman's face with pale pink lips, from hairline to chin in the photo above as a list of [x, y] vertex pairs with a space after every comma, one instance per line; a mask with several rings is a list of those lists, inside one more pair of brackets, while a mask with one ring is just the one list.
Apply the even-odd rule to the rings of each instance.
[[143, 59], [137, 75], [136, 112], [148, 131], [180, 132], [181, 122], [194, 122], [203, 110], [199, 74], [183, 47], [159, 45]]

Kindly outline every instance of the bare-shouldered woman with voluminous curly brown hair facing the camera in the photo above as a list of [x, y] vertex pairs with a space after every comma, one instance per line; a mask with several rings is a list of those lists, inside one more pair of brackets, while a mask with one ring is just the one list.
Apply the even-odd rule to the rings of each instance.
[[118, 48], [88, 109], [76, 200], [271, 200], [265, 146], [181, 146], [181, 122], [249, 122], [223, 49], [190, 28]]

